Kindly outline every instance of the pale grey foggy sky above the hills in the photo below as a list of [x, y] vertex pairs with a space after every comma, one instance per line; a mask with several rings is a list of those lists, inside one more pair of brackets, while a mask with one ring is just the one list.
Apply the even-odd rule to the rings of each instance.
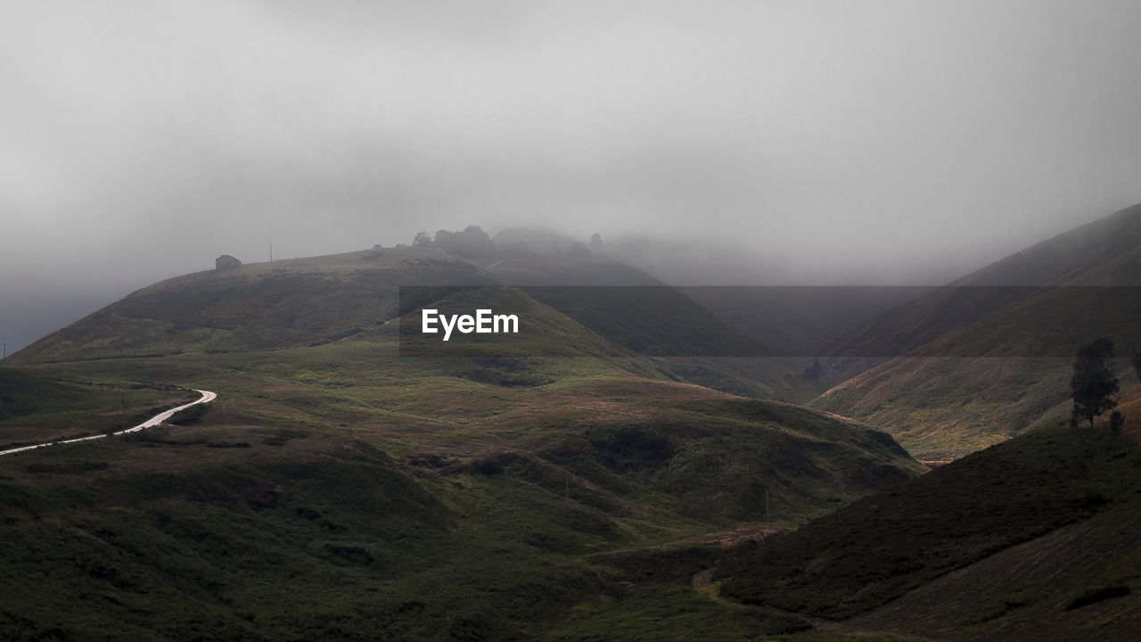
[[736, 283], [937, 283], [1141, 201], [1134, 0], [0, 14], [9, 353], [270, 242], [549, 225], [737, 243]]

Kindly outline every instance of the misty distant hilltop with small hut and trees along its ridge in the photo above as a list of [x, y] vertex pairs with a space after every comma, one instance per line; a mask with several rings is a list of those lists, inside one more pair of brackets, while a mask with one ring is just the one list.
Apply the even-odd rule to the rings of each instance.
[[[395, 248], [170, 279], [40, 339], [11, 361], [321, 345], [378, 331], [398, 315], [402, 286], [524, 284], [532, 286], [527, 291], [533, 298], [632, 353], [771, 352], [664, 283], [612, 260], [533, 256], [497, 260], [487, 270], [437, 249]], [[499, 295], [477, 294], [474, 305], [486, 307], [494, 296]], [[751, 372], [717, 364], [688, 368], [685, 374], [707, 384], [735, 377], [736, 392], [764, 390], [753, 384]]]

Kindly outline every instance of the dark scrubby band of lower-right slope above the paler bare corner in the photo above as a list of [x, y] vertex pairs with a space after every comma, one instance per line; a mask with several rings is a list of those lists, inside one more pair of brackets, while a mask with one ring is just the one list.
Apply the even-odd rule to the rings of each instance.
[[[1098, 537], [1116, 538], [1124, 546], [1112, 553], [1115, 571], [1100, 579], [1093, 577], [1097, 573], [1054, 577], [1059, 585], [1052, 587], [1035, 585], [1033, 579], [1022, 581], [1028, 592], [1025, 604], [1051, 593], [1076, 600], [1100, 581], [1138, 588], [1141, 540], [1135, 533], [1124, 539], [1115, 533], [1139, 506], [1141, 448], [1136, 442], [1100, 430], [1039, 428], [775, 537], [721, 564], [715, 577], [725, 580], [722, 594], [735, 600], [842, 619], [874, 612], [1012, 546], [1089, 522]], [[1106, 514], [1115, 516], [1090, 521]], [[1055, 549], [1036, 563], [1065, 568], [1071, 554], [1076, 551]], [[972, 577], [981, 581], [985, 576]], [[1010, 577], [1003, 589], [1013, 593], [1019, 581]], [[988, 602], [995, 599], [993, 592], [972, 594], [970, 583], [958, 586], [954, 596], [940, 593], [965, 603], [956, 611], [960, 619], [952, 628], [1002, 615], [984, 617], [993, 608]], [[906, 600], [900, 603], [921, 603]], [[966, 621], [971, 610], [978, 610], [980, 619]], [[897, 609], [897, 621], [907, 617]]]

